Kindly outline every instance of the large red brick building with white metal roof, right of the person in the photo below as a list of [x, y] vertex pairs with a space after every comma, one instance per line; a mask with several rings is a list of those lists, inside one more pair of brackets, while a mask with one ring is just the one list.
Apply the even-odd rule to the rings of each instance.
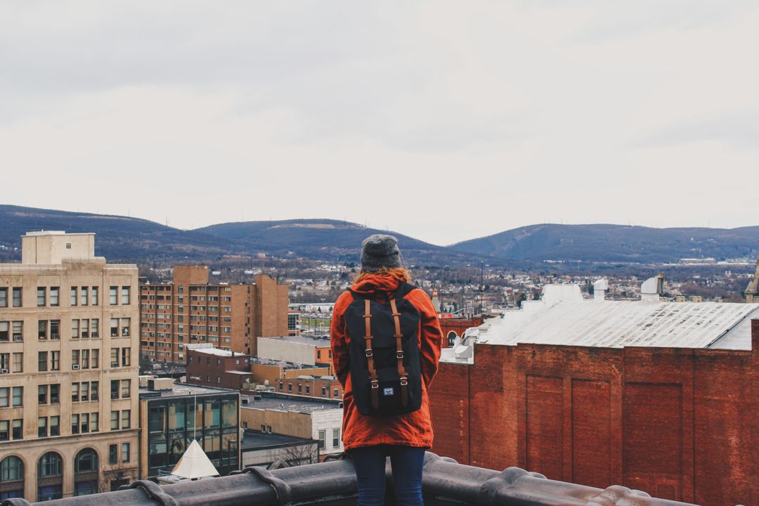
[[480, 327], [474, 359], [444, 352], [433, 451], [698, 504], [756, 503], [759, 305], [541, 300], [505, 316]]

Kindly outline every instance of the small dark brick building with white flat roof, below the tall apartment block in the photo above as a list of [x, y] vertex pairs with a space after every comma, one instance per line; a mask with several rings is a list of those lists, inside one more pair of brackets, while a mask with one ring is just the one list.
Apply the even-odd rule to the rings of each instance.
[[202, 344], [190, 344], [187, 350], [187, 383], [214, 388], [241, 390], [250, 383], [250, 357], [234, 351]]

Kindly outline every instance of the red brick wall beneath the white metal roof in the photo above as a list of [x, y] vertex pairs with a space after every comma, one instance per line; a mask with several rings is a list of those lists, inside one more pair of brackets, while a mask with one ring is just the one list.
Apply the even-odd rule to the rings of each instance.
[[759, 504], [754, 351], [477, 344], [430, 388], [433, 451], [461, 464]]

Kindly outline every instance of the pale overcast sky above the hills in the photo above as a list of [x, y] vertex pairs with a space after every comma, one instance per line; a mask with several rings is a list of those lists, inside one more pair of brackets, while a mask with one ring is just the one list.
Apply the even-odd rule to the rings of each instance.
[[756, 2], [0, 3], [0, 203], [759, 225]]

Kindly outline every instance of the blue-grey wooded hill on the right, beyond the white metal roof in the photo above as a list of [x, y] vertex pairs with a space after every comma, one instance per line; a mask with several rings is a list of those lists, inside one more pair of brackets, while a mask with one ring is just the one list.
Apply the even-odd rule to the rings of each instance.
[[756, 258], [759, 227], [648, 228], [625, 225], [530, 225], [453, 250], [519, 261], [677, 262], [682, 258]]

